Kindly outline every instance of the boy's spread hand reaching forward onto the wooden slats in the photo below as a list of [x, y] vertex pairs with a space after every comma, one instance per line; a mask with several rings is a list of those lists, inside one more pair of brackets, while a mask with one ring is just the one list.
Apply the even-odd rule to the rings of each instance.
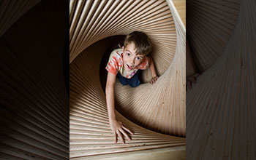
[[121, 123], [121, 121], [116, 121], [116, 120], [111, 120], [110, 121], [110, 128], [113, 131], [115, 140], [114, 143], [117, 143], [117, 136], [121, 139], [121, 142], [124, 144], [124, 138], [123, 135], [125, 137], [127, 137], [128, 140], [132, 140], [128, 135], [127, 132], [129, 132], [131, 135], [134, 135], [129, 129], [127, 129], [127, 127], [124, 127], [124, 124]]

